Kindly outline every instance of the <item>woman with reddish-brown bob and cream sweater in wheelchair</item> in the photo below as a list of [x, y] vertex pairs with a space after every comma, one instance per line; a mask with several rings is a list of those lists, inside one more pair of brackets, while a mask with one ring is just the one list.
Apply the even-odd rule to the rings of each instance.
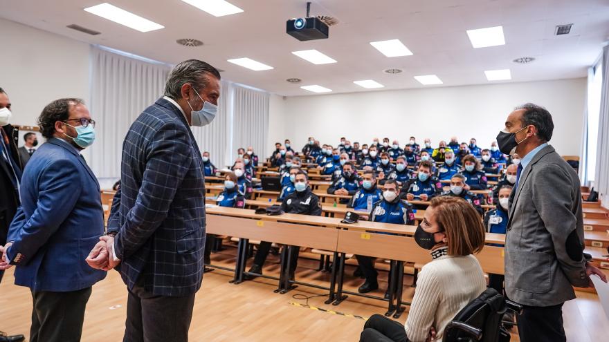
[[406, 324], [375, 314], [365, 323], [361, 342], [442, 341], [446, 325], [487, 288], [473, 256], [484, 247], [484, 226], [466, 200], [433, 198], [415, 240], [430, 250], [433, 260], [419, 272]]

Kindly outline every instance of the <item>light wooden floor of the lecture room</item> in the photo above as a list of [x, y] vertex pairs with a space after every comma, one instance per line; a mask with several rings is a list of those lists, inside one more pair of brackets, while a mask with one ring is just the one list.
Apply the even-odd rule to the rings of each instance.
[[[212, 263], [233, 266], [235, 250], [228, 247], [212, 255]], [[251, 260], [250, 260], [251, 262]], [[300, 260], [297, 279], [326, 285], [327, 274], [316, 272], [314, 260]], [[265, 274], [277, 274], [278, 257], [269, 256]], [[354, 267], [347, 267], [345, 288], [356, 289], [361, 279], [353, 278]], [[305, 304], [292, 298], [294, 294], [314, 296], [323, 294], [318, 289], [298, 287], [288, 294], [275, 294], [274, 281], [261, 279], [240, 285], [228, 283], [230, 272], [219, 269], [205, 274], [203, 288], [197, 293], [190, 326], [190, 341], [358, 341], [364, 321], [317, 310], [298, 307]], [[381, 272], [382, 295], [386, 286], [386, 272]], [[13, 285], [12, 269], [0, 284], [0, 330], [10, 334], [29, 334], [32, 310], [27, 288]], [[406, 279], [409, 284], [411, 279]], [[405, 288], [405, 298], [413, 291]], [[407, 298], [408, 297], [408, 298]], [[84, 318], [82, 341], [122, 341], [126, 312], [127, 291], [117, 272], [109, 272], [104, 281], [93, 287]], [[349, 297], [341, 305], [325, 305], [324, 297], [311, 298], [309, 305], [336, 310], [345, 314], [368, 317], [386, 311], [384, 302], [367, 298]], [[406, 321], [407, 312], [399, 321]], [[578, 298], [565, 304], [563, 316], [568, 341], [607, 341], [609, 321], [595, 294], [578, 292]], [[511, 341], [519, 341], [514, 330]]]

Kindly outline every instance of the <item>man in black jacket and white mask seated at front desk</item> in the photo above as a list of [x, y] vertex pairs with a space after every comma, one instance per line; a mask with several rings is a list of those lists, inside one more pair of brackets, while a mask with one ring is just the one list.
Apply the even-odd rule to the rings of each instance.
[[[296, 173], [294, 177], [294, 187], [296, 191], [291, 193], [287, 198], [281, 202], [281, 210], [284, 213], [300, 213], [302, 215], [321, 216], [321, 205], [319, 198], [311, 191], [309, 187], [309, 178], [307, 173], [302, 170]], [[258, 251], [254, 257], [254, 263], [250, 268], [250, 273], [262, 274], [262, 267], [266, 261], [266, 257], [269, 256], [271, 250], [271, 243], [262, 241]], [[291, 253], [291, 264], [289, 265], [289, 278], [294, 278], [294, 271], [298, 264], [298, 247], [292, 249]], [[251, 280], [256, 276], [247, 275], [246, 280]]]

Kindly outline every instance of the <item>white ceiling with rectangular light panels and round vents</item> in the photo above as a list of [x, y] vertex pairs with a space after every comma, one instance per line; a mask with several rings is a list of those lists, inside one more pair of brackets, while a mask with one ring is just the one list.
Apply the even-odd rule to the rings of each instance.
[[[82, 10], [104, 1], [165, 28], [142, 33]], [[285, 33], [287, 19], [305, 16], [305, 0], [229, 1], [244, 12], [213, 17], [180, 0], [3, 0], [0, 17], [169, 64], [202, 59], [225, 70], [224, 79], [286, 96], [311, 95], [300, 89], [310, 84], [333, 93], [369, 91], [353, 84], [361, 79], [374, 79], [385, 85], [381, 89], [422, 88], [412, 77], [429, 74], [442, 86], [487, 84], [484, 70], [503, 68], [511, 69], [507, 82], [585, 77], [609, 40], [607, 0], [316, 0], [311, 15], [339, 21], [329, 39], [316, 41]], [[66, 28], [72, 23], [102, 34]], [[566, 23], [574, 24], [570, 35], [556, 37], [555, 26]], [[491, 26], [503, 26], [505, 46], [472, 48], [466, 30]], [[205, 45], [186, 48], [176, 44], [180, 38]], [[400, 39], [414, 55], [388, 58], [369, 44], [387, 39]], [[338, 63], [313, 65], [291, 54], [313, 48]], [[252, 71], [226, 61], [239, 57], [274, 69]], [[518, 57], [536, 61], [513, 63]], [[386, 68], [404, 71], [386, 75]], [[302, 82], [289, 84], [290, 77]]]

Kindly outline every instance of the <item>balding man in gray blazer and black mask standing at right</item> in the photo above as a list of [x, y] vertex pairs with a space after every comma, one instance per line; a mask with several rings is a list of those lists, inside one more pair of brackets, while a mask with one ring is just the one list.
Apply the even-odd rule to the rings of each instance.
[[520, 341], [566, 341], [562, 307], [573, 286], [592, 286], [591, 274], [606, 276], [583, 253], [579, 178], [548, 144], [552, 115], [525, 104], [509, 114], [497, 137], [505, 154], [518, 153], [516, 184], [509, 198], [505, 240], [505, 292], [524, 310]]

